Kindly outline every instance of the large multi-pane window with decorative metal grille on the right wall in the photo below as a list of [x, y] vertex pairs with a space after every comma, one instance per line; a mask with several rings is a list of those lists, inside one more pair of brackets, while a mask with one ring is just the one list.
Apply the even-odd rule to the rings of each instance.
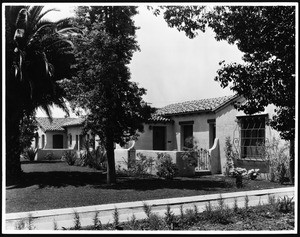
[[260, 157], [259, 146], [265, 143], [266, 116], [247, 116], [240, 118], [241, 158]]

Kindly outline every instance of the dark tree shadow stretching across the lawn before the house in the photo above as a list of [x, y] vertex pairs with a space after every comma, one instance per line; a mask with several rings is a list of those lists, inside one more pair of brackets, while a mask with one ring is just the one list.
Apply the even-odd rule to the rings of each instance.
[[164, 180], [155, 177], [134, 178], [118, 177], [114, 185], [106, 184], [106, 174], [101, 172], [79, 171], [49, 171], [49, 172], [24, 172], [17, 183], [8, 186], [7, 189], [26, 188], [38, 185], [45, 187], [87, 186], [95, 189], [133, 189], [133, 190], [156, 190], [156, 189], [189, 189], [189, 190], [215, 190], [232, 187], [232, 183], [224, 179], [215, 178], [175, 178]]

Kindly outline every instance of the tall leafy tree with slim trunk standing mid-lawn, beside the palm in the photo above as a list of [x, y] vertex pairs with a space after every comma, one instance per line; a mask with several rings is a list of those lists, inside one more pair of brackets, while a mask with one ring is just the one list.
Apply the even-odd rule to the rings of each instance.
[[76, 41], [78, 73], [65, 81], [71, 107], [87, 112], [85, 131], [99, 136], [107, 152], [107, 183], [116, 182], [114, 143], [133, 139], [150, 115], [145, 89], [130, 81], [128, 64], [138, 50], [133, 6], [78, 7], [84, 35]]

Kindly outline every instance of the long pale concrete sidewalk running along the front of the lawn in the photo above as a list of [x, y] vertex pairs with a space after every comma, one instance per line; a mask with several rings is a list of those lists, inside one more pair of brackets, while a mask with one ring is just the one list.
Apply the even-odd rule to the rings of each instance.
[[113, 212], [115, 208], [118, 209], [120, 222], [131, 219], [133, 214], [137, 220], [144, 219], [146, 218], [146, 214], [143, 211], [144, 203], [151, 206], [152, 211], [157, 213], [158, 215], [164, 215], [167, 205], [171, 207], [171, 210], [174, 214], [179, 215], [181, 205], [183, 207], [183, 210], [194, 208], [194, 206], [196, 205], [199, 212], [201, 212], [205, 210], [205, 206], [208, 202], [210, 202], [212, 205], [217, 205], [218, 200], [220, 199], [220, 197], [222, 197], [225, 204], [227, 204], [229, 207], [233, 206], [235, 199], [237, 200], [238, 206], [243, 207], [245, 203], [245, 196], [248, 196], [248, 205], [256, 206], [259, 202], [261, 204], [267, 203], [269, 195], [272, 195], [276, 198], [284, 196], [293, 197], [295, 195], [295, 188], [288, 187], [241, 191], [233, 193], [222, 193], [221, 196], [220, 194], [211, 194], [33, 212], [9, 213], [5, 215], [5, 230], [8, 231], [7, 233], [17, 233], [16, 231], [14, 231], [16, 224], [22, 219], [25, 219], [25, 221], [27, 221], [29, 215], [31, 215], [31, 217], [33, 218], [32, 224], [35, 227], [35, 230], [53, 230], [54, 222], [56, 222], [58, 229], [62, 229], [62, 227], [70, 228], [74, 226], [74, 212], [77, 212], [79, 214], [81, 226], [88, 226], [93, 224], [93, 218], [95, 217], [96, 212], [99, 212], [98, 217], [102, 224], [112, 223]]

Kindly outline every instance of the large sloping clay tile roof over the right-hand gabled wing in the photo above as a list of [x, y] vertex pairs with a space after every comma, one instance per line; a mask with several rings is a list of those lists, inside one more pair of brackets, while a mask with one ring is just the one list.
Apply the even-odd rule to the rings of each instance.
[[204, 112], [204, 111], [214, 111], [235, 97], [236, 95], [223, 96], [218, 98], [201, 99], [201, 100], [193, 100], [193, 101], [186, 101], [182, 103], [170, 104], [159, 109], [157, 111], [157, 114], [161, 116], [167, 116], [167, 115], [177, 115], [177, 114], [186, 114], [186, 113], [197, 113], [197, 112]]

